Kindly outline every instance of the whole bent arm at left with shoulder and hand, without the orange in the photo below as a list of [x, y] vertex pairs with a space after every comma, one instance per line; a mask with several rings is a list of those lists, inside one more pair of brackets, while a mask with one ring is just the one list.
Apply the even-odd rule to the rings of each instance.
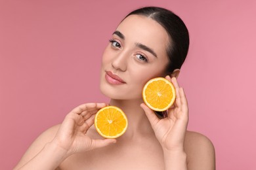
[[68, 156], [116, 143], [116, 139], [91, 139], [86, 133], [96, 112], [105, 103], [79, 105], [66, 115], [60, 126], [40, 135], [14, 169], [56, 169]]

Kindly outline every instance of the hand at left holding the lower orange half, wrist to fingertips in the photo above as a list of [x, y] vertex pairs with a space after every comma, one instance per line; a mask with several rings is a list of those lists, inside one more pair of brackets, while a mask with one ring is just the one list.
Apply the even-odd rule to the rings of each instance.
[[91, 139], [87, 135], [96, 112], [102, 107], [106, 107], [106, 103], [85, 103], [75, 107], [66, 115], [52, 143], [66, 150], [68, 156], [116, 143], [116, 139]]

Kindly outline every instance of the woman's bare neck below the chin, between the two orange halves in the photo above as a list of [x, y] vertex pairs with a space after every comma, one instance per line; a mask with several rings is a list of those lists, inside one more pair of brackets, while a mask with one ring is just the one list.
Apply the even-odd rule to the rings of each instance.
[[119, 107], [125, 112], [128, 119], [127, 131], [120, 138], [122, 139], [137, 139], [138, 135], [154, 135], [154, 131], [140, 107], [143, 103], [142, 99], [138, 100], [116, 100], [110, 99], [110, 105]]

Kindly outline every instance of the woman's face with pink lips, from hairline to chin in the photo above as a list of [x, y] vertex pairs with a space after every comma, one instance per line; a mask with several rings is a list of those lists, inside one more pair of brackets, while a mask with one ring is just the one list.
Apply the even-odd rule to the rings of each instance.
[[168, 43], [158, 22], [140, 15], [125, 18], [102, 56], [101, 92], [112, 99], [142, 99], [144, 84], [165, 76]]

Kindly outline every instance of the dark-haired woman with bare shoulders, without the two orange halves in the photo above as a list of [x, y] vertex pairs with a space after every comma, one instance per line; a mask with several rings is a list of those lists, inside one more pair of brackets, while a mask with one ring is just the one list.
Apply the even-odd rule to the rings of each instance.
[[[110, 103], [76, 107], [42, 133], [14, 169], [215, 169], [211, 141], [186, 130], [188, 104], [177, 77], [188, 44], [186, 26], [173, 12], [145, 7], [128, 14], [102, 57], [100, 90]], [[144, 84], [157, 76], [177, 91], [166, 118], [142, 100]], [[93, 126], [106, 105], [121, 108], [129, 121], [117, 139], [102, 139]]]

